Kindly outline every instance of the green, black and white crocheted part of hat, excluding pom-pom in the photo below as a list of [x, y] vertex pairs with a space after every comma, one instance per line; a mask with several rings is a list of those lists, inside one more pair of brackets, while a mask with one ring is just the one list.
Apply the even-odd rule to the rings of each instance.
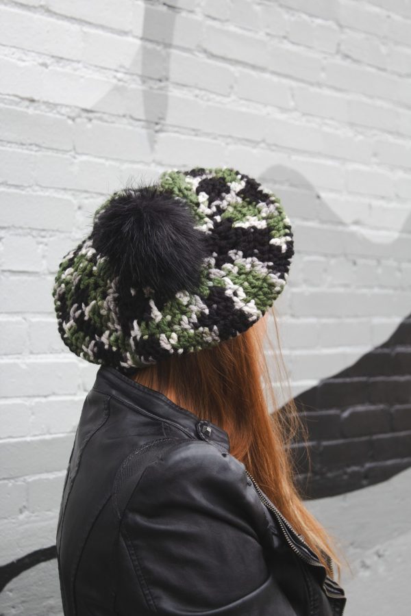
[[[120, 285], [115, 264], [96, 251], [92, 233], [64, 257], [53, 287], [64, 344], [87, 361], [125, 373], [246, 331], [284, 290], [294, 254], [279, 198], [238, 170], [169, 170], [157, 185], [184, 199], [192, 224], [205, 234], [208, 255], [197, 289], [183, 287], [166, 297], [150, 285]], [[109, 203], [97, 209], [95, 224]]]

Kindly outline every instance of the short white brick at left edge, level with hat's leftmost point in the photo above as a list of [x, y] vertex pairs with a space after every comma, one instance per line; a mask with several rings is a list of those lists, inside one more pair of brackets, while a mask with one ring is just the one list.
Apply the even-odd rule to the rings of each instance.
[[53, 279], [43, 276], [3, 276], [0, 279], [0, 311], [25, 313], [29, 298], [36, 298], [31, 312], [53, 312]]

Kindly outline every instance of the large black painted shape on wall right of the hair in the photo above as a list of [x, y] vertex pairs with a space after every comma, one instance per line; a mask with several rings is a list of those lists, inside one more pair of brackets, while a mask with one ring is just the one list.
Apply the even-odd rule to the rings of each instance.
[[411, 314], [384, 344], [295, 402], [310, 433], [310, 473], [296, 446], [307, 498], [360, 489], [410, 467]]

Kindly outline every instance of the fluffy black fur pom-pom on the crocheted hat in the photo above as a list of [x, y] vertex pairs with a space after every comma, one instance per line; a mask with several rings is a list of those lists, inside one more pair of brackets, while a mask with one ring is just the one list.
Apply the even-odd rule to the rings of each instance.
[[197, 288], [208, 256], [206, 234], [195, 224], [186, 201], [158, 185], [126, 188], [97, 214], [91, 239], [121, 286], [149, 286], [171, 298]]

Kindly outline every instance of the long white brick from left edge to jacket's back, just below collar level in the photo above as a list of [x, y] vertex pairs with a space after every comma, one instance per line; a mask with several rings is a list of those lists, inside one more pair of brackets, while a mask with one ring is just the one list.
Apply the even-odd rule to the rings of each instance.
[[5, 479], [66, 470], [74, 435], [0, 441]]

